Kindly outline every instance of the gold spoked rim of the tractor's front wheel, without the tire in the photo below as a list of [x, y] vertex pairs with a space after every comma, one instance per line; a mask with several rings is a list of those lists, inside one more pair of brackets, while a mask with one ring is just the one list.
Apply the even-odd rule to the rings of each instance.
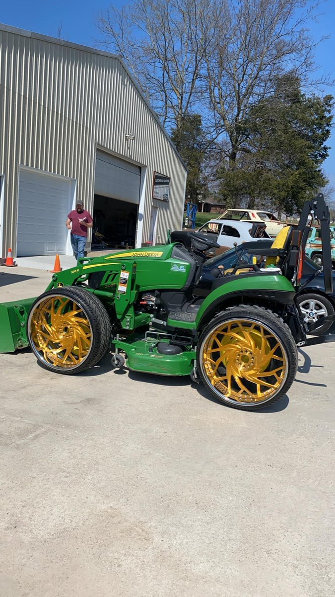
[[30, 314], [29, 336], [41, 361], [57, 369], [75, 369], [88, 358], [92, 328], [85, 311], [72, 298], [42, 298]]

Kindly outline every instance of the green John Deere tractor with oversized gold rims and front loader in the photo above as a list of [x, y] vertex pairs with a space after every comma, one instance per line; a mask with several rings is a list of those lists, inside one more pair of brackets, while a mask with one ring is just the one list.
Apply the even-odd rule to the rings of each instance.
[[46, 291], [0, 305], [0, 352], [30, 345], [55, 373], [94, 367], [108, 351], [114, 367], [190, 376], [221, 402], [255, 410], [289, 390], [306, 328], [296, 302], [309, 213], [322, 229], [325, 287], [332, 291], [329, 213], [322, 195], [306, 202], [296, 229], [284, 228], [266, 267], [218, 269], [206, 297], [194, 293], [215, 239], [190, 233], [178, 243], [80, 259], [55, 273]]

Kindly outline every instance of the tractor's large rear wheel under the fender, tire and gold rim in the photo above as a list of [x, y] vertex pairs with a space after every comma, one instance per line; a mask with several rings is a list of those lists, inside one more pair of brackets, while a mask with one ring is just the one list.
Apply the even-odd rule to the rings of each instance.
[[289, 327], [275, 313], [240, 305], [219, 313], [204, 328], [197, 370], [210, 392], [229, 407], [268, 407], [290, 389], [297, 371], [297, 347]]

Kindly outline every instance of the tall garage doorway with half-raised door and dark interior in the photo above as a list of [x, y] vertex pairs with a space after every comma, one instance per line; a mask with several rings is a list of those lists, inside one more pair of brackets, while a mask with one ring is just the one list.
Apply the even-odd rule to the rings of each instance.
[[135, 247], [141, 168], [97, 150], [92, 249]]

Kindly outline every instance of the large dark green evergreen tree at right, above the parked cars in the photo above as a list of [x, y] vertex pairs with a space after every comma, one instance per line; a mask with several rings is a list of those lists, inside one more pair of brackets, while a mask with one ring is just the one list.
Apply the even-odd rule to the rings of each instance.
[[333, 97], [305, 96], [299, 80], [288, 77], [278, 79], [275, 96], [250, 109], [235, 166], [219, 171], [226, 205], [295, 213], [327, 184], [321, 165], [328, 155]]

